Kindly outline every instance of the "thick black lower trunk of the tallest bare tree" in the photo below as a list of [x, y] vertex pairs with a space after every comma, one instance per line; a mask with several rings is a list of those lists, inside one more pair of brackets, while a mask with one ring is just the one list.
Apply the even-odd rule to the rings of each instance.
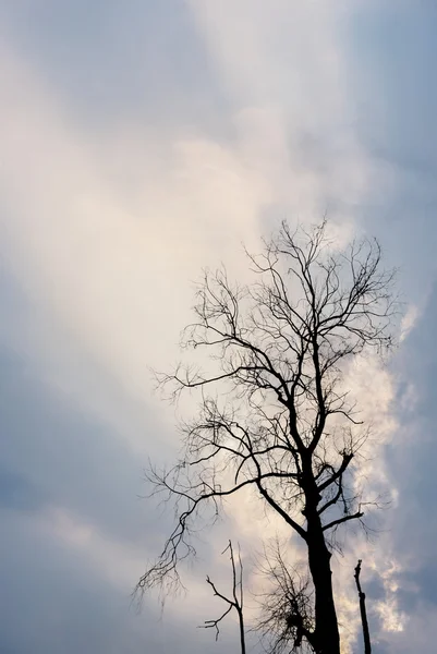
[[331, 554], [326, 545], [320, 516], [317, 512], [319, 495], [314, 476], [312, 473], [305, 476], [308, 565], [315, 592], [315, 646], [317, 654], [340, 654]]

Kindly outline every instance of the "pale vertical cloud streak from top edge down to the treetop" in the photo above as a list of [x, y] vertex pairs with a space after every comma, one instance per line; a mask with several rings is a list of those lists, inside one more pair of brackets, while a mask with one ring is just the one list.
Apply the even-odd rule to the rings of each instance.
[[[243, 150], [283, 213], [353, 222], [355, 206], [381, 183], [379, 165], [353, 129], [336, 2], [192, 0], [236, 120]], [[379, 178], [379, 179], [378, 179]]]

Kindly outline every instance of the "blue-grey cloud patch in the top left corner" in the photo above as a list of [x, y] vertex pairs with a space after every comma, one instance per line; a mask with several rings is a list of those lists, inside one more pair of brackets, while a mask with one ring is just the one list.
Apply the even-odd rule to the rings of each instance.
[[213, 63], [181, 0], [26, 0], [2, 13], [20, 50], [85, 129], [143, 122], [145, 114], [155, 124], [198, 126], [222, 105]]

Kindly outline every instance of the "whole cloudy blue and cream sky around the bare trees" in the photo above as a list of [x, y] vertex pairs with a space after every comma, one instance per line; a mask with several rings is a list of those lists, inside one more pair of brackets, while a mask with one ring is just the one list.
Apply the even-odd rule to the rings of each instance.
[[229, 533], [259, 535], [244, 502], [185, 597], [131, 603], [171, 520], [144, 469], [178, 448], [150, 368], [178, 360], [203, 267], [244, 279], [243, 241], [325, 213], [340, 244], [379, 239], [405, 307], [392, 360], [352, 379], [391, 507], [335, 565], [348, 584], [368, 562], [376, 654], [433, 647], [436, 33], [434, 0], [0, 1], [2, 653], [236, 649], [196, 626]]

